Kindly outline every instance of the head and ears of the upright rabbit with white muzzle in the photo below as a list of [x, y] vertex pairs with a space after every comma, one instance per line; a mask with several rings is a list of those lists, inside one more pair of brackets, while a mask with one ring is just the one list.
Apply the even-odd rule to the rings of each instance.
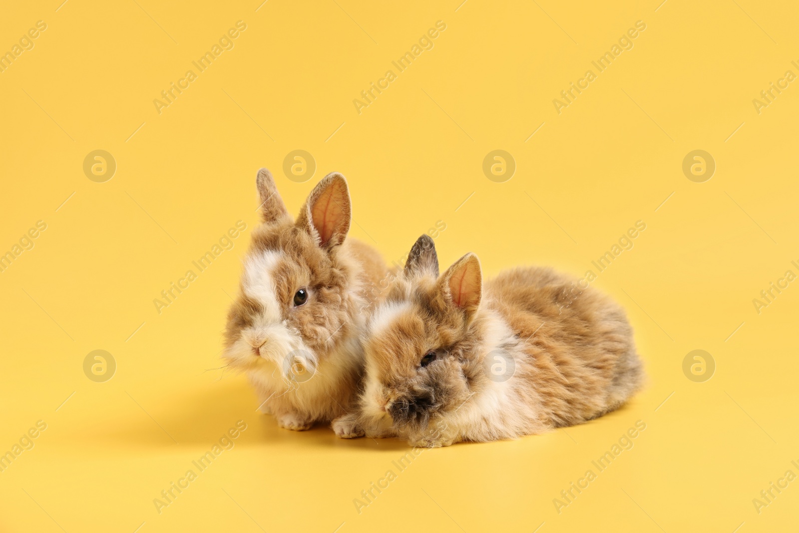
[[328, 174], [294, 220], [268, 170], [256, 184], [263, 223], [244, 257], [223, 358], [230, 368], [288, 383], [312, 376], [329, 353], [357, 341], [360, 287], [356, 265], [341, 250], [350, 197], [344, 176]]

